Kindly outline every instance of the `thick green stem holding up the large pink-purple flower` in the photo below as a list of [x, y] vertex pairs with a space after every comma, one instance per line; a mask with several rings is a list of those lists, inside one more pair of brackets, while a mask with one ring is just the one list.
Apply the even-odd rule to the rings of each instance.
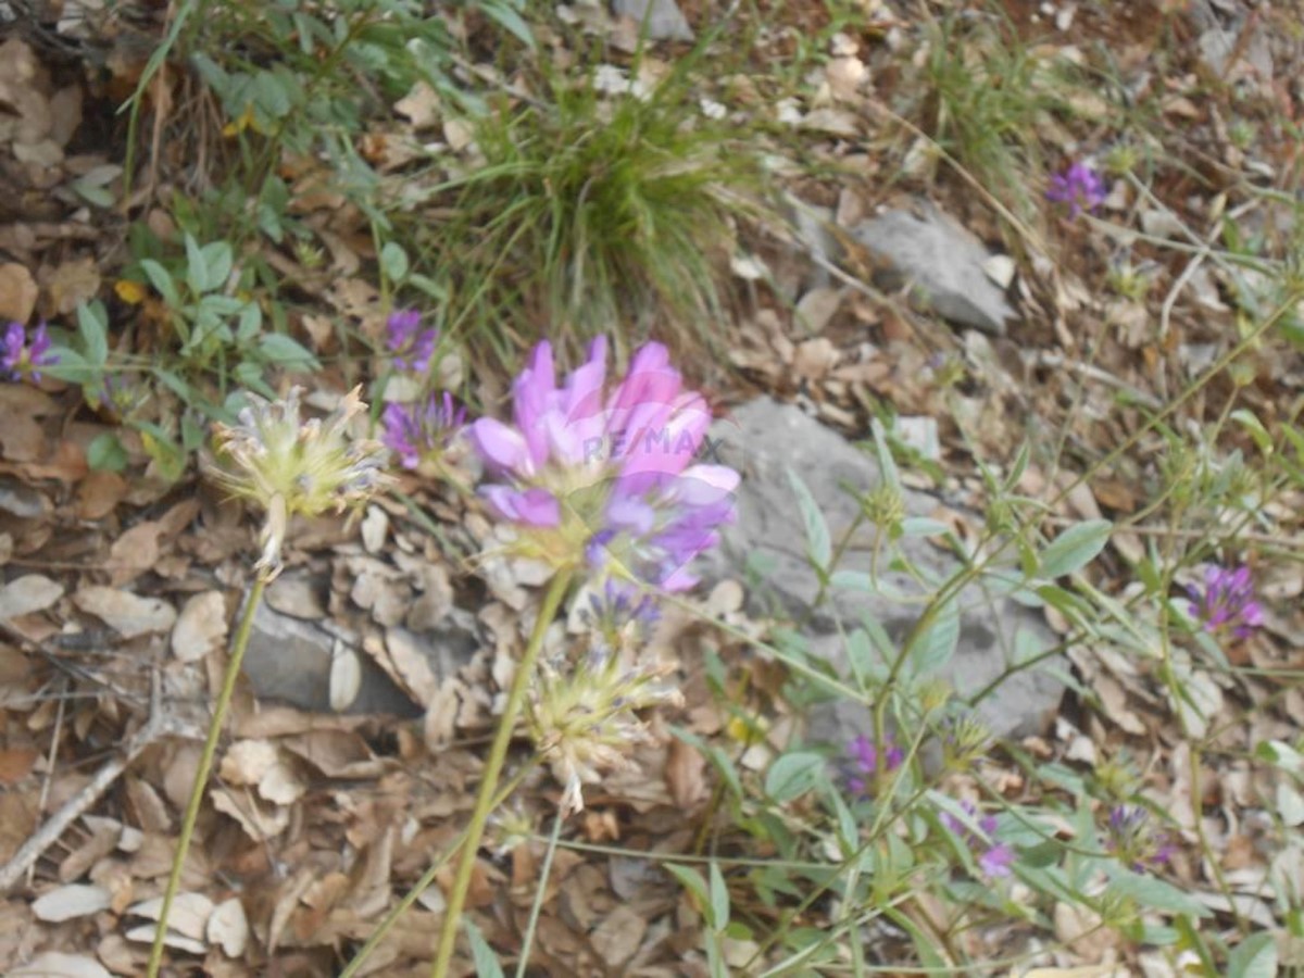
[[489, 756], [485, 760], [485, 771], [480, 778], [480, 790], [476, 794], [476, 807], [471, 812], [471, 823], [467, 827], [467, 840], [463, 842], [462, 858], [458, 861], [458, 872], [452, 879], [452, 889], [449, 893], [449, 906], [443, 911], [443, 927], [439, 931], [439, 949], [430, 969], [432, 978], [447, 978], [449, 965], [452, 962], [452, 948], [458, 943], [458, 925], [462, 922], [462, 908], [467, 901], [467, 889], [471, 887], [471, 872], [476, 865], [476, 852], [480, 849], [480, 838], [485, 833], [485, 823], [493, 808], [494, 792], [498, 788], [498, 775], [502, 773], [502, 763], [507, 756], [507, 746], [511, 743], [511, 732], [516, 726], [516, 716], [526, 699], [526, 690], [529, 687], [531, 675], [535, 672], [535, 662], [539, 660], [539, 651], [544, 645], [544, 635], [548, 626], [557, 617], [562, 597], [570, 587], [571, 574], [561, 571], [553, 578], [544, 596], [544, 604], [539, 609], [539, 618], [535, 621], [535, 631], [526, 645], [526, 655], [516, 664], [516, 674], [511, 679], [511, 689], [507, 692], [507, 704], [502, 708], [502, 717], [498, 720], [498, 732], [494, 734], [493, 745], [489, 747]]

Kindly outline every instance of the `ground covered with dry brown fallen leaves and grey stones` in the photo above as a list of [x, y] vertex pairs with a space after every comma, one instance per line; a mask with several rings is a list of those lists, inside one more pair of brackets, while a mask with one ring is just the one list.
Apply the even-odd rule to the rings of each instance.
[[[908, 93], [897, 86], [921, 51], [904, 8], [866, 4], [854, 29], [828, 39], [825, 76], [811, 80], [805, 99], [768, 104], [758, 69], [755, 98], [739, 100], [743, 112], [773, 111], [785, 126], [765, 136], [776, 147], [799, 149], [842, 175], [794, 173], [786, 193], [795, 230], [756, 230], [734, 257], [732, 363], [703, 368], [696, 379], [717, 387], [721, 452], [747, 477], [741, 519], [691, 599], [694, 613], [668, 614], [656, 636], [659, 653], [678, 668], [682, 709], [657, 719], [655, 743], [591, 790], [585, 811], [566, 825], [539, 922], [539, 973], [705, 973], [700, 915], [657, 859], [748, 853], [707, 756], [668, 726], [737, 754], [752, 773], [807, 730], [784, 702], [782, 669], [746, 642], [768, 635], [772, 619], [801, 617], [815, 591], [784, 466], [802, 471], [831, 524], [846, 526], [854, 506], [840, 485], [876, 479], [855, 442], [888, 403], [898, 439], [921, 472], [935, 475], [908, 476], [910, 514], [964, 535], [982, 523], [979, 462], [999, 467], [1025, 437], [1055, 442], [1063, 454], [1035, 458], [1021, 489], [1055, 498], [1052, 523], [1102, 514], [1128, 522], [1095, 571], [1099, 587], [1115, 589], [1164, 533], [1144, 518], [1163, 443], [1129, 443], [1132, 432], [1148, 411], [1176, 403], [1244, 325], [1245, 283], [1206, 246], [1218, 218], [1234, 211], [1267, 250], [1287, 236], [1290, 209], [1251, 192], [1291, 186], [1301, 166], [1290, 128], [1304, 98], [1294, 70], [1301, 42], [1277, 29], [1284, 10], [1007, 3], [1011, 23], [1037, 39], [1041, 56], [1072, 60], [1073, 51], [1104, 46], [1138, 99], [1162, 93], [1153, 143], [1142, 149], [1176, 162], [1155, 163], [1145, 181], [1114, 179], [1099, 213], [1071, 219], [1048, 207], [1005, 210], [898, 115]], [[686, 4], [683, 13], [702, 30], [720, 10]], [[758, 63], [829, 22], [815, 5], [776, 5], [773, 16]], [[70, 323], [78, 304], [98, 296], [124, 323], [115, 343], [147, 351], [158, 301], [115, 291], [124, 223], [89, 203], [121, 177], [124, 133], [111, 104], [132, 74], [115, 65], [140, 51], [113, 47], [108, 68], [89, 81], [78, 64], [85, 42], [43, 47], [43, 38], [9, 29], [0, 48], [0, 173], [12, 189], [0, 200], [0, 313]], [[657, 57], [668, 64], [679, 51], [662, 44]], [[1196, 95], [1210, 73], [1236, 86], [1235, 104]], [[704, 93], [716, 96], [728, 100], [724, 85]], [[1108, 107], [1093, 104], [1088, 86], [1071, 96], [1085, 119], [1097, 113], [1086, 133], [1038, 121], [1042, 141], [1065, 147], [1063, 162], [1103, 153], [1093, 137], [1112, 138]], [[1228, 112], [1256, 124], [1248, 145], [1228, 137], [1236, 121]], [[415, 124], [411, 107], [399, 108], [389, 134]], [[333, 245], [330, 275], [304, 279], [318, 313], [304, 317], [303, 333], [322, 348], [329, 317], [372, 335], [378, 327], [377, 292], [360, 259], [370, 257], [365, 235], [326, 205], [304, 205]], [[1142, 295], [1099, 288], [1120, 256], [1151, 276]], [[931, 305], [913, 304], [904, 280], [923, 284]], [[1237, 403], [1287, 416], [1304, 387], [1297, 355], [1265, 348], [1247, 363]], [[960, 383], [951, 382], [953, 369]], [[344, 389], [343, 373], [331, 364], [317, 378], [322, 407]], [[1224, 381], [1205, 389], [1174, 422], [1217, 416], [1230, 391]], [[0, 386], [0, 970], [10, 974], [141, 973], [151, 901], [249, 582], [246, 514], [193, 468], [175, 481], [158, 477], [138, 433], [120, 432], [120, 472], [93, 468], [89, 450], [106, 432], [120, 432], [112, 412], [89, 409], [67, 385]], [[1104, 472], [1076, 481], [1120, 445], [1127, 450]], [[177, 974], [336, 973], [471, 807], [498, 679], [519, 652], [537, 582], [505, 562], [477, 561], [471, 572], [468, 561], [490, 535], [477, 503], [412, 477], [400, 488], [402, 499], [379, 501], [360, 520], [295, 527], [288, 569], [256, 619], [248, 682], [186, 865], [170, 938]], [[1149, 664], [1107, 644], [1016, 673], [978, 704], [1024, 759], [1090, 764], [1127, 748], [1144, 759], [1170, 810], [1191, 820], [1198, 811], [1224, 815], [1210, 845], [1236, 895], [1231, 909], [1265, 927], [1274, 922], [1264, 879], [1275, 854], [1262, 846], [1266, 819], [1253, 789], [1264, 775], [1248, 750], [1292, 741], [1304, 716], [1297, 683], [1273, 678], [1304, 665], [1297, 503], [1284, 494], [1256, 529], [1284, 557], [1265, 567], [1267, 626], [1228, 651], [1243, 672], [1196, 677], [1198, 712], [1223, 730], [1223, 751], [1206, 758], [1198, 781], [1175, 734], [1175, 712], [1185, 707], [1167, 699]], [[751, 580], [758, 558], [769, 570], [765, 585]], [[867, 559], [850, 548], [848, 566]], [[917, 559], [939, 572], [955, 566], [926, 544]], [[1005, 668], [1017, 632], [1048, 651], [1072, 631], [1054, 613], [981, 595], [965, 608], [952, 677], [961, 695], [983, 691]], [[893, 631], [909, 623], [891, 605], [837, 610], [870, 610]], [[837, 660], [832, 621], [806, 626]], [[708, 674], [715, 656], [748, 675], [728, 694], [735, 709], [767, 717], [760, 742], [739, 741], [732, 726], [734, 713]], [[807, 732], [840, 741], [862, 722], [840, 711]], [[1011, 798], [1038, 790], [1009, 756], [991, 763], [988, 777]], [[503, 953], [526, 927], [557, 797], [550, 772], [527, 765], [519, 802], [494, 825], [477, 866], [471, 906]], [[1228, 911], [1205, 885], [1198, 854], [1176, 859], [1172, 875]], [[360, 974], [424, 974], [441, 908], [432, 887]], [[819, 926], [824, 910], [812, 908], [806, 922]], [[1116, 935], [1093, 935], [1073, 919], [1056, 919], [1056, 931], [1069, 948], [1058, 964], [1141, 968], [1136, 948]], [[973, 941], [992, 958], [1026, 947], [1011, 934], [975, 932]], [[44, 964], [22, 970], [34, 960]]]

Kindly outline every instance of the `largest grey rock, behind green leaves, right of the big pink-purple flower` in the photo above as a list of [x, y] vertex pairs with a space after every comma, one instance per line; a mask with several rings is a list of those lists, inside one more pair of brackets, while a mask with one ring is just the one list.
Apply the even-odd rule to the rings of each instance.
[[[806, 559], [806, 533], [786, 471], [792, 467], [806, 482], [836, 544], [859, 510], [846, 489], [863, 493], [880, 481], [874, 458], [799, 408], [769, 398], [730, 412], [713, 425], [711, 438], [717, 458], [738, 468], [743, 481], [735, 499], [738, 519], [725, 529], [722, 545], [703, 562], [703, 576], [711, 582], [762, 576], [760, 587], [748, 589], [750, 610], [778, 612], [802, 622], [810, 651], [838, 669], [846, 668], [840, 623], [848, 631], [855, 630], [861, 618], [870, 615], [893, 642], [904, 639], [917, 621], [918, 601], [859, 588], [835, 588], [820, 609], [808, 612], [819, 584]], [[931, 514], [938, 506], [938, 499], [927, 493], [902, 488], [902, 496], [906, 512], [913, 516]], [[848, 548], [838, 570], [870, 571], [867, 544], [874, 529], [866, 524], [862, 532], [863, 537], [857, 539], [863, 542]], [[901, 549], [915, 567], [938, 582], [951, 578], [961, 566], [958, 558], [923, 537], [905, 537]], [[878, 580], [906, 596], [925, 593], [905, 572], [880, 567]], [[1025, 632], [1024, 649], [1045, 651], [1059, 642], [1038, 613], [1009, 599], [992, 597], [990, 588], [977, 583], [960, 592], [958, 608], [957, 651], [941, 672], [962, 699], [985, 690], [1007, 668], [1016, 634]], [[1052, 673], [1063, 665], [1061, 659], [1050, 657], [1038, 668], [1013, 673], [977, 704], [979, 715], [998, 735], [1039, 729], [1059, 704], [1063, 683]], [[835, 711], [828, 712], [825, 721], [842, 724]]]

